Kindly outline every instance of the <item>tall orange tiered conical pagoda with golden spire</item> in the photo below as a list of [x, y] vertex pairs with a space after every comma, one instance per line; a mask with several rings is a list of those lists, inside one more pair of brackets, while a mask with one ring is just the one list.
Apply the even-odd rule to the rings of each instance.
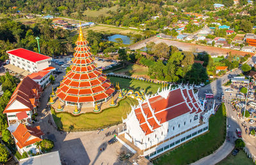
[[57, 97], [66, 106], [94, 107], [96, 103], [106, 102], [115, 91], [106, 75], [94, 63], [87, 44], [80, 26], [73, 65], [56, 91]]

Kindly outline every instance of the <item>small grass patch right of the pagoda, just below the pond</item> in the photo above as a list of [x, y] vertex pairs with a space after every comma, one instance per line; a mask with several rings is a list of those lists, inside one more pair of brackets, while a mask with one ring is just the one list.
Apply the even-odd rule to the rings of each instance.
[[116, 74], [122, 74], [125, 75], [147, 75], [148, 74], [148, 67], [143, 67], [141, 65], [137, 64], [130, 64], [127, 67], [114, 71]]

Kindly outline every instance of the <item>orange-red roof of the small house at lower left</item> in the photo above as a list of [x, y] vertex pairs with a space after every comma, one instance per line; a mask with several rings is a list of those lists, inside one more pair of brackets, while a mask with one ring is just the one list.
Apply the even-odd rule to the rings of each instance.
[[17, 139], [19, 148], [32, 145], [38, 141], [42, 141], [41, 136], [44, 135], [40, 126], [29, 127], [27, 125], [19, 124], [17, 129], [12, 133], [13, 137]]

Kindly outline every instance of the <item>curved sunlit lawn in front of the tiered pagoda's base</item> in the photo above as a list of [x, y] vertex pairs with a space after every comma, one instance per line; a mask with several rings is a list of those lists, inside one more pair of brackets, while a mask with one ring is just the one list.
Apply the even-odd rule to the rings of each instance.
[[127, 113], [131, 111], [131, 105], [137, 103], [137, 100], [127, 97], [119, 102], [118, 107], [104, 109], [101, 113], [85, 113], [79, 116], [70, 113], [52, 113], [52, 116], [59, 129], [97, 129], [122, 122], [122, 118], [126, 118]]

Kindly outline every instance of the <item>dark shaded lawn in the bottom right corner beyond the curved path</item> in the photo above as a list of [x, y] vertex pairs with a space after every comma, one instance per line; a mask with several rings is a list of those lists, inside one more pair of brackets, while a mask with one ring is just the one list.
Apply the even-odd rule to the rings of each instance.
[[236, 156], [233, 156], [231, 153], [223, 159], [221, 162], [219, 162], [216, 165], [241, 165], [241, 164], [255, 164], [253, 163], [252, 159], [248, 158], [246, 156], [246, 153], [243, 150], [240, 150], [239, 153], [237, 153]]

